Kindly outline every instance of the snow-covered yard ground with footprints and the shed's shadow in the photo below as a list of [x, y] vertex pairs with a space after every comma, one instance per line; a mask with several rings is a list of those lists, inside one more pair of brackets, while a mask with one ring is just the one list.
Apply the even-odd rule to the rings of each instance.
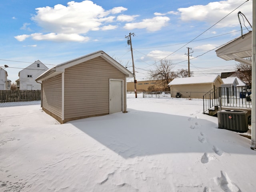
[[255, 192], [250, 139], [218, 129], [200, 99], [128, 94], [128, 113], [63, 125], [38, 101], [9, 105], [0, 192]]

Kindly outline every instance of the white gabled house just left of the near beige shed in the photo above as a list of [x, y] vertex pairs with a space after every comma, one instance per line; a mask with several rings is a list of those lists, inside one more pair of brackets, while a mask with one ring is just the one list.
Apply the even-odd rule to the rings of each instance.
[[[41, 84], [35, 79], [48, 70], [41, 61], [37, 60], [25, 69], [19, 72], [19, 88], [20, 90], [41, 90]], [[18, 85], [18, 83], [17, 83]]]

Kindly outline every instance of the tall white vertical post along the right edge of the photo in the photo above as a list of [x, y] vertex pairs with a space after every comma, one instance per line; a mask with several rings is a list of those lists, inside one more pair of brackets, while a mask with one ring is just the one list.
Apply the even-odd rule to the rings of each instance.
[[252, 0], [252, 143], [256, 149], [256, 0]]

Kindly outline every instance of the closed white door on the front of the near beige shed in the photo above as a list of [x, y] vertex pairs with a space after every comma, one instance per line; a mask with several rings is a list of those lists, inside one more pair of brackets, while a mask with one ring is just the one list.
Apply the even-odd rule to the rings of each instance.
[[123, 109], [123, 81], [110, 79], [109, 85], [109, 113], [117, 113]]

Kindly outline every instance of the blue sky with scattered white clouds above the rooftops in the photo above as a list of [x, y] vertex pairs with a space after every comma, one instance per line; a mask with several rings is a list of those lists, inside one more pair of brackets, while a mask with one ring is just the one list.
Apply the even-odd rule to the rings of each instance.
[[[12, 82], [38, 59], [51, 68], [98, 50], [132, 71], [129, 33], [135, 34], [136, 79], [146, 79], [165, 57], [174, 70], [187, 69], [187, 48], [195, 76], [234, 71], [236, 62], [218, 58], [212, 49], [240, 36], [239, 11], [252, 23], [252, 0], [1, 0], [0, 8], [0, 66], [9, 66]], [[244, 33], [251, 30], [242, 24]]]

